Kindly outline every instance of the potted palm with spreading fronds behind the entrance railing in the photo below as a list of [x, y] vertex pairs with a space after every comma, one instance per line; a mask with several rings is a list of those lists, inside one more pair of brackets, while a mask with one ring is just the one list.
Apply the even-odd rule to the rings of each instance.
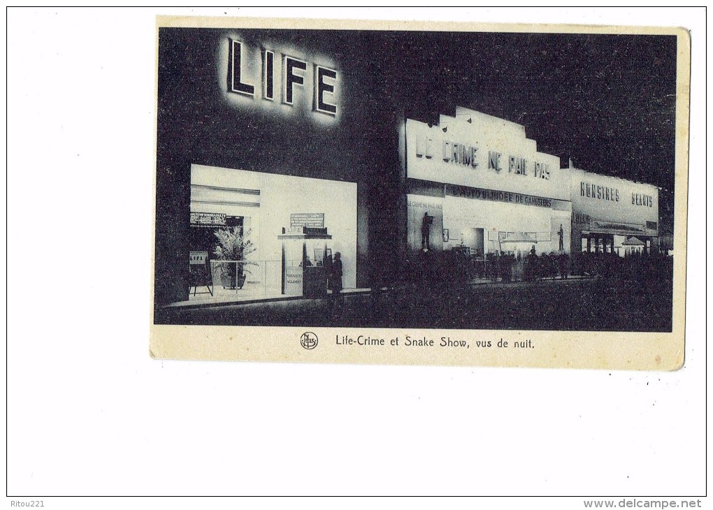
[[250, 274], [245, 266], [255, 264], [246, 261], [245, 257], [255, 251], [255, 245], [250, 241], [250, 231], [243, 234], [242, 227], [229, 227], [215, 231], [217, 245], [213, 255], [220, 262], [220, 284], [223, 288], [242, 288]]

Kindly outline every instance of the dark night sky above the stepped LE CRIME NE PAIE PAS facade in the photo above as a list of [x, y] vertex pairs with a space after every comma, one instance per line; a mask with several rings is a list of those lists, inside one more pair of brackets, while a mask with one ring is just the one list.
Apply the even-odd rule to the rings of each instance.
[[524, 125], [564, 166], [673, 189], [673, 36], [381, 33], [374, 46], [410, 117], [473, 108]]

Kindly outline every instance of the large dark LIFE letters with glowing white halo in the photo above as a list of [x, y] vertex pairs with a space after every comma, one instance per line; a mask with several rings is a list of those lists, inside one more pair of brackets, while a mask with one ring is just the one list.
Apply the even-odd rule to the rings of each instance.
[[[229, 39], [227, 90], [231, 93], [249, 95], [255, 98], [257, 81], [262, 82], [262, 100], [275, 100], [275, 52], [261, 51], [262, 76], [247, 76], [245, 53], [247, 48], [244, 43]], [[282, 104], [294, 105], [297, 91], [304, 88], [307, 81], [308, 68], [312, 67], [312, 109], [327, 115], [337, 115], [335, 101], [335, 87], [339, 79], [336, 69], [320, 66], [317, 63], [308, 63], [300, 58], [282, 55], [281, 76], [278, 76], [279, 88], [282, 93]]]

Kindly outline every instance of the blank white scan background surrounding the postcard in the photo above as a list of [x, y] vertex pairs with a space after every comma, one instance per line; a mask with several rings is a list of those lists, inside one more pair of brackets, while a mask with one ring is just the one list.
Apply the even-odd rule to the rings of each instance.
[[[159, 13], [689, 28], [684, 368], [609, 373], [150, 359]], [[703, 9], [12, 9], [8, 16], [11, 499], [105, 508], [116, 501], [91, 506], [48, 496], [704, 494]]]

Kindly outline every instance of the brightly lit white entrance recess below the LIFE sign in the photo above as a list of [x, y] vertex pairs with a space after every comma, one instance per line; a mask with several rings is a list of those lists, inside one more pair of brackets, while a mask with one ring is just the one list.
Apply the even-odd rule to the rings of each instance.
[[[302, 295], [306, 272], [318, 292], [337, 251], [342, 286], [356, 287], [356, 183], [192, 165], [190, 222], [189, 251], [207, 254], [212, 275], [212, 288], [191, 286], [191, 300]], [[250, 251], [227, 261], [215, 232], [236, 228]]]

